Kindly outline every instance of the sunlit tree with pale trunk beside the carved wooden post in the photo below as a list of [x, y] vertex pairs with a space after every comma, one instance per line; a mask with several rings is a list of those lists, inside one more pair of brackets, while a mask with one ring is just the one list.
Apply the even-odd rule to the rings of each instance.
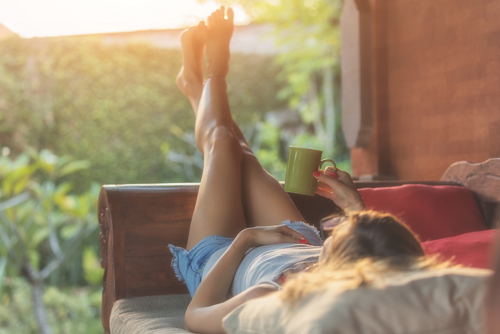
[[[277, 63], [286, 84], [278, 94], [298, 108], [324, 151], [346, 153], [340, 133], [341, 0], [226, 0], [241, 5], [255, 22], [275, 28]], [[334, 147], [334, 146], [337, 147]], [[339, 152], [341, 151], [341, 152]]]

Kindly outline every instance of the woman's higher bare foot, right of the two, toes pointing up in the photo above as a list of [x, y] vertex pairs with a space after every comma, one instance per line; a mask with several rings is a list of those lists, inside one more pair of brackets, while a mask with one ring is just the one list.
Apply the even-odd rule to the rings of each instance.
[[206, 43], [207, 75], [225, 77], [229, 71], [229, 41], [234, 30], [233, 9], [221, 6], [208, 16], [208, 39]]

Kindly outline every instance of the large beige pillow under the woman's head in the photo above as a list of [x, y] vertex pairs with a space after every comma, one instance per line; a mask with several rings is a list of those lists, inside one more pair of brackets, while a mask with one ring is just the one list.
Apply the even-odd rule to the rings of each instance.
[[350, 291], [332, 283], [295, 309], [274, 293], [242, 304], [223, 323], [228, 333], [482, 333], [490, 275], [469, 268], [407, 272]]

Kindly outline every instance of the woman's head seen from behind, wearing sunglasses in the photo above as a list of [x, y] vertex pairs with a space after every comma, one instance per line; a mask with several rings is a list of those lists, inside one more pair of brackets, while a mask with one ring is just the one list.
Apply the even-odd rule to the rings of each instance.
[[349, 214], [332, 230], [320, 259], [349, 264], [368, 258], [397, 266], [424, 255], [416, 235], [396, 217], [361, 211]]

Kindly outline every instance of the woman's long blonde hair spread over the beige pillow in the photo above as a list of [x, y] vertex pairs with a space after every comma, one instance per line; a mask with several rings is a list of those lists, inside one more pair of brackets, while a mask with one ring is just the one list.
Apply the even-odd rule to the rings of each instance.
[[316, 266], [287, 278], [280, 291], [284, 301], [324, 291], [332, 282], [342, 289], [354, 289], [390, 272], [450, 266], [426, 256], [417, 236], [391, 214], [350, 213], [331, 236]]

